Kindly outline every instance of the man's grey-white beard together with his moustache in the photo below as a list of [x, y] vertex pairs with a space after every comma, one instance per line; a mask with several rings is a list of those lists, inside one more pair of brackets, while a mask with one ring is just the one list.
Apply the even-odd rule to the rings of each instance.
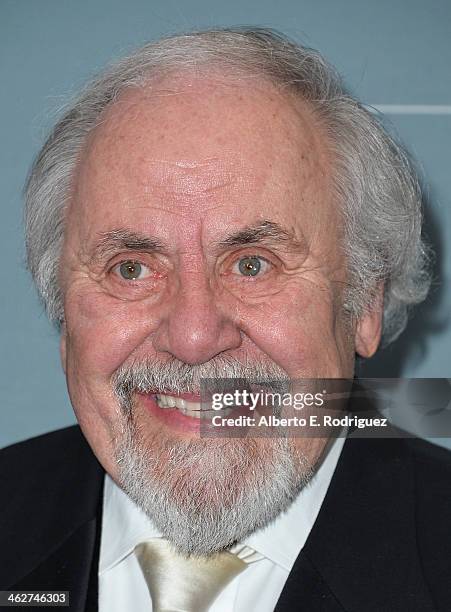
[[119, 484], [184, 554], [211, 554], [267, 525], [310, 480], [313, 466], [286, 437], [186, 440], [161, 428], [144, 435], [134, 392], [197, 391], [202, 379], [249, 377], [289, 380], [268, 359], [221, 356], [193, 366], [177, 359], [131, 362], [113, 378], [124, 424], [115, 452]]

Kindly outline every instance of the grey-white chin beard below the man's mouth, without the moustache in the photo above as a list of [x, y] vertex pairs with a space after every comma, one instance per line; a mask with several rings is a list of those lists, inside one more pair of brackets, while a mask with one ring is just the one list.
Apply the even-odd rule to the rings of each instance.
[[181, 553], [207, 555], [283, 512], [313, 466], [288, 438], [139, 438], [128, 420], [116, 449], [119, 483]]

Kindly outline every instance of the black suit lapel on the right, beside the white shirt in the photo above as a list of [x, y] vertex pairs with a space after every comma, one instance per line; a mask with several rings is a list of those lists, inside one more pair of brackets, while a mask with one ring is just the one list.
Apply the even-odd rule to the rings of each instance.
[[402, 440], [348, 439], [277, 612], [434, 610], [416, 545], [413, 480]]

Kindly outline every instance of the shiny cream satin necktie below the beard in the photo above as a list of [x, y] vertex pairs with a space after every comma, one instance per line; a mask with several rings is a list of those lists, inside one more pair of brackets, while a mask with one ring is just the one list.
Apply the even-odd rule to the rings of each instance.
[[248, 546], [231, 550], [210, 557], [184, 557], [163, 538], [138, 544], [135, 553], [153, 612], [206, 612], [235, 576], [249, 563], [263, 559]]

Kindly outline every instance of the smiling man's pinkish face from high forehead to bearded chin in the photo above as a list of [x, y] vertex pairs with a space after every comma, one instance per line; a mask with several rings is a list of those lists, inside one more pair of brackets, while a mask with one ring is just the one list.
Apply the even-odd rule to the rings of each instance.
[[[282, 456], [299, 488], [325, 446], [199, 439], [196, 417], [161, 401], [192, 392], [183, 388], [187, 372], [230, 376], [231, 363], [269, 378], [352, 376], [356, 328], [342, 307], [347, 274], [333, 163], [307, 107], [263, 83], [185, 75], [125, 94], [79, 164], [61, 267], [70, 396], [113, 478], [127, 489], [124, 480], [140, 471], [141, 490], [174, 497], [173, 523], [190, 515], [176, 543], [189, 539], [193, 496], [197, 512], [210, 502], [216, 518], [234, 503], [261, 503], [256, 494], [243, 501], [243, 491], [281, 478]], [[121, 405], [118, 370], [149, 365], [166, 377], [165, 388], [132, 386], [132, 404]], [[156, 391], [169, 399], [159, 405]], [[270, 488], [268, 496], [280, 497]], [[286, 503], [276, 500], [272, 514]], [[154, 496], [152, 504], [163, 502]], [[163, 514], [153, 516], [161, 529], [170, 520]]]

